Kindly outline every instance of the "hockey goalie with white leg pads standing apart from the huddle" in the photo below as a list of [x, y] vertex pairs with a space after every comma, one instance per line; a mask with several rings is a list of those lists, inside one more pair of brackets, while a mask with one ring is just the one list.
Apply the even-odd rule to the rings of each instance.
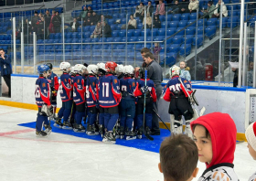
[[[169, 113], [171, 114], [171, 131], [172, 133], [182, 133], [182, 115], [186, 120], [186, 133], [192, 138], [192, 133], [190, 130], [190, 122], [193, 119], [193, 109], [188, 101], [187, 93], [191, 94], [193, 91], [191, 89], [191, 84], [188, 80], [180, 78], [185, 86], [178, 80], [180, 73], [180, 68], [176, 65], [170, 68], [171, 80], [165, 85], [164, 90], [164, 100], [170, 101]], [[187, 90], [187, 91], [186, 91]]]

